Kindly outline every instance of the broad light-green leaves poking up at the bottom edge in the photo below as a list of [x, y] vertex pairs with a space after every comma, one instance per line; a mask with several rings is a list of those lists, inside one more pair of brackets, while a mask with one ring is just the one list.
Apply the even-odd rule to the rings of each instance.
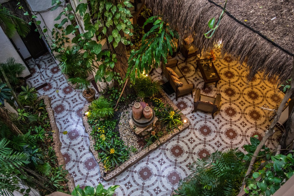
[[80, 185], [76, 186], [71, 195], [75, 196], [113, 196], [115, 190], [119, 185], [112, 185], [108, 189], [104, 189], [103, 185], [99, 183], [95, 188], [91, 186], [86, 186], [84, 189], [80, 188]]

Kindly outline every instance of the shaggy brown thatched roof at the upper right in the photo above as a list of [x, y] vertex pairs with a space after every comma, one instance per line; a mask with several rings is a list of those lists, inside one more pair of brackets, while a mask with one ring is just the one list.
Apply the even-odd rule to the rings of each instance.
[[[145, 0], [154, 14], [160, 14], [180, 39], [193, 35], [193, 44], [209, 50], [222, 40], [222, 54], [247, 62], [249, 79], [257, 72], [265, 78], [290, 78], [294, 53], [293, 0], [228, 0], [226, 13], [211, 39], [204, 37], [207, 22], [220, 15], [221, 0]], [[217, 22], [217, 21], [216, 21]]]

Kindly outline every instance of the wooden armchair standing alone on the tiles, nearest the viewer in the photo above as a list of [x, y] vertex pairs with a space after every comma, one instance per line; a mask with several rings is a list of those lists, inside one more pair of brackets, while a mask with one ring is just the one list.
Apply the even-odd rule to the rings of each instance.
[[[221, 99], [221, 95], [219, 93], [214, 98], [211, 96], [202, 95], [200, 88], [197, 88], [195, 92], [195, 97], [194, 97], [193, 112], [195, 112], [197, 109], [202, 110], [204, 112], [210, 112], [212, 115], [212, 118], [214, 119], [214, 113], [216, 113], [216, 111], [218, 110], [218, 107], [220, 105], [220, 99]], [[211, 102], [213, 104], [207, 103], [205, 101]]]

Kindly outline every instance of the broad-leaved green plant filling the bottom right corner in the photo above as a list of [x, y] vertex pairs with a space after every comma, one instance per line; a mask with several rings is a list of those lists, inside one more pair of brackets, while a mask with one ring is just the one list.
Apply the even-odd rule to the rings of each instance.
[[[292, 153], [286, 155], [271, 156], [272, 162], [254, 172], [247, 179], [248, 189], [244, 189], [250, 196], [273, 195], [294, 174], [294, 156]], [[260, 180], [256, 180], [257, 178]]]

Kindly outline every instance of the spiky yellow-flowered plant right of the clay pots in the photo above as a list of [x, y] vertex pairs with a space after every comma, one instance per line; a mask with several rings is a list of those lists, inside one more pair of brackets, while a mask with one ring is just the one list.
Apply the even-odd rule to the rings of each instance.
[[170, 108], [167, 110], [164, 108], [161, 113], [159, 113], [159, 121], [162, 122], [162, 126], [166, 126], [167, 131], [173, 131], [175, 128], [179, 129], [178, 126], [183, 125], [181, 121], [181, 110], [173, 110]]

